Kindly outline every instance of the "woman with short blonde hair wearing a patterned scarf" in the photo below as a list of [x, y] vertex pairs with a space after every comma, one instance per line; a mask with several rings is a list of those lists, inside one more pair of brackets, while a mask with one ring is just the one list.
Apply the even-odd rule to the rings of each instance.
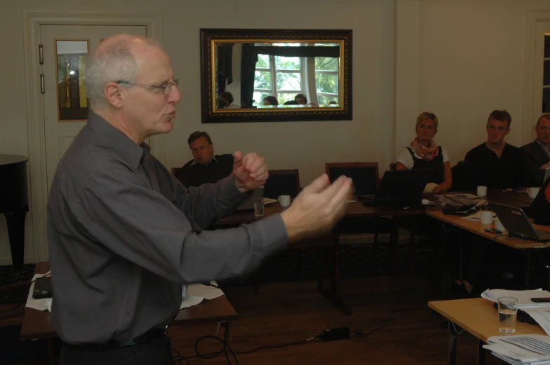
[[397, 158], [396, 170], [432, 169], [426, 193], [448, 191], [452, 185], [447, 151], [434, 142], [438, 120], [434, 113], [425, 111], [416, 120], [416, 138]]

